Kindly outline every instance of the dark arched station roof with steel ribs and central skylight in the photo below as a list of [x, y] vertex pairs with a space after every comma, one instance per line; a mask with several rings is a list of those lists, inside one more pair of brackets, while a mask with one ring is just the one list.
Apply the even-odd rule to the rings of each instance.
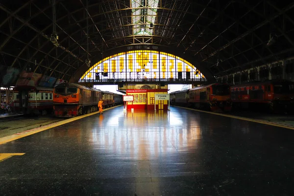
[[207, 78], [281, 60], [294, 54], [294, 1], [0, 1], [0, 65], [76, 82], [137, 49], [183, 57]]

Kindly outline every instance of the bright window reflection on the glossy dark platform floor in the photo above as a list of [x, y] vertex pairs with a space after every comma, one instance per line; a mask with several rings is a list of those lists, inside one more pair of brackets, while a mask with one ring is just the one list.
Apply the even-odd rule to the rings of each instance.
[[198, 123], [193, 121], [191, 127], [187, 126], [187, 119], [182, 119], [176, 111], [117, 113], [104, 118], [92, 133], [92, 141], [103, 146], [100, 150], [111, 151], [111, 156], [150, 160], [187, 151], [190, 147], [195, 150], [200, 135]]

